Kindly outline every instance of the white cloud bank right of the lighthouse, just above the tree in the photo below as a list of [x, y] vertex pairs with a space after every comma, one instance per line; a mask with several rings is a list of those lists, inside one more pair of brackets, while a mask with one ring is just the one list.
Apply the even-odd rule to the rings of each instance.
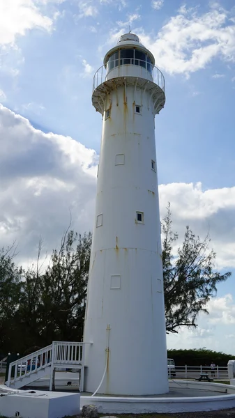
[[160, 212], [163, 217], [171, 203], [174, 231], [183, 238], [185, 226], [204, 238], [210, 233], [217, 253], [216, 268], [235, 267], [235, 187], [202, 190], [202, 183], [160, 185]]

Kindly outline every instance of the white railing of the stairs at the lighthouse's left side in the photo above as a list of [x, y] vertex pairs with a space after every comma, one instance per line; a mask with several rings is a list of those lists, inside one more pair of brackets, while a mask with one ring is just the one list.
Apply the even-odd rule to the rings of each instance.
[[[53, 372], [56, 368], [84, 369], [84, 344], [67, 341], [53, 341], [50, 346], [41, 348], [30, 355], [21, 357], [9, 364], [6, 386], [10, 387], [18, 380], [37, 374], [38, 371], [50, 367], [50, 388], [52, 387]], [[12, 374], [14, 375], [13, 377]], [[36, 380], [36, 379], [35, 379]]]

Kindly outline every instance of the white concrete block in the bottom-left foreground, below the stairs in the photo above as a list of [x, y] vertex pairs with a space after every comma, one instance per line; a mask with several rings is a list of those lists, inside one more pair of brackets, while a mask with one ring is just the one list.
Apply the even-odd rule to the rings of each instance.
[[0, 391], [0, 416], [23, 418], [62, 418], [80, 413], [80, 394], [61, 392]]

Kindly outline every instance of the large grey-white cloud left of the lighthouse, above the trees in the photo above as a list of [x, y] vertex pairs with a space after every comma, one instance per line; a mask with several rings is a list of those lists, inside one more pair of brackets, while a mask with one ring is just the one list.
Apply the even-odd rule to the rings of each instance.
[[[0, 107], [0, 241], [17, 241], [20, 262], [36, 256], [39, 237], [50, 251], [68, 226], [93, 227], [97, 156], [70, 137], [44, 134]], [[91, 220], [92, 219], [92, 220]]]

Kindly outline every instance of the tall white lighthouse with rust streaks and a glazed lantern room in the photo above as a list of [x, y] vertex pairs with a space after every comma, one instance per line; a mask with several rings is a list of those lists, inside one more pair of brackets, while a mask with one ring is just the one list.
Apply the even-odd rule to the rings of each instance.
[[86, 314], [86, 392], [168, 392], [155, 116], [165, 80], [127, 33], [93, 78], [103, 118]]

